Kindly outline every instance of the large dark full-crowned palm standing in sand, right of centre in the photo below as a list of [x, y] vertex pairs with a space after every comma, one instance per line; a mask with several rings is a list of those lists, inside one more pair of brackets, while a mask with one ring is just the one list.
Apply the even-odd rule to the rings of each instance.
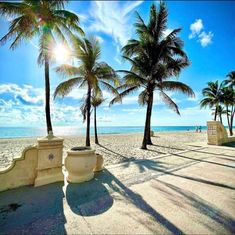
[[178, 106], [165, 91], [176, 90], [191, 96], [194, 93], [184, 83], [167, 80], [179, 75], [181, 70], [189, 65], [189, 61], [182, 50], [183, 42], [177, 37], [180, 29], [173, 30], [169, 35], [164, 34], [167, 28], [165, 3], [160, 3], [158, 12], [154, 4], [151, 6], [148, 24], [145, 24], [137, 13], [135, 27], [139, 38], [129, 40], [122, 49], [123, 58], [131, 63], [131, 69], [120, 70], [124, 73], [125, 83], [119, 89], [124, 91], [113, 99], [111, 104], [142, 88], [139, 103], [147, 105], [147, 110], [141, 148], [147, 149], [147, 144], [152, 144], [150, 129], [154, 91], [158, 90], [163, 101], [178, 114]]

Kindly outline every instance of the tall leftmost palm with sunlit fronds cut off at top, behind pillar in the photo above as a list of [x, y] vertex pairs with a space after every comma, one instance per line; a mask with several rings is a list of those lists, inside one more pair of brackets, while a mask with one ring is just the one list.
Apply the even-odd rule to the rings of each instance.
[[23, 0], [21, 2], [0, 2], [0, 15], [13, 18], [10, 21], [8, 33], [0, 39], [0, 43], [12, 39], [10, 49], [14, 50], [23, 40], [39, 38], [38, 63], [44, 64], [45, 69], [45, 113], [47, 133], [52, 132], [50, 115], [50, 76], [49, 62], [55, 37], [67, 43], [64, 33], [71, 39], [72, 31], [83, 34], [78, 26], [79, 18], [76, 14], [64, 10], [64, 0]]

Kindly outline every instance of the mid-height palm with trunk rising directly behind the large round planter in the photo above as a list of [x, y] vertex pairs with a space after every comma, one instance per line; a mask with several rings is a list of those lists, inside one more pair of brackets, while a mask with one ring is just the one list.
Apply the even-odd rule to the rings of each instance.
[[105, 62], [99, 62], [100, 45], [95, 38], [79, 38], [74, 41], [74, 57], [78, 60], [78, 66], [61, 65], [56, 71], [65, 76], [71, 76], [65, 82], [60, 83], [54, 93], [56, 96], [66, 96], [73, 88], [87, 88], [85, 98], [86, 105], [86, 146], [90, 146], [90, 113], [92, 91], [102, 94], [103, 89], [117, 95], [115, 86], [119, 85], [119, 79], [115, 71]]

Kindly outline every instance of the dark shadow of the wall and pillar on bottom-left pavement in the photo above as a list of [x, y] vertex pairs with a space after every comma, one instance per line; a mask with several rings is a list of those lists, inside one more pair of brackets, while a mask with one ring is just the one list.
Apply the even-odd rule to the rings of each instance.
[[[1, 233], [66, 234], [63, 184], [23, 186], [1, 192]], [[15, 205], [13, 209], [12, 205]]]

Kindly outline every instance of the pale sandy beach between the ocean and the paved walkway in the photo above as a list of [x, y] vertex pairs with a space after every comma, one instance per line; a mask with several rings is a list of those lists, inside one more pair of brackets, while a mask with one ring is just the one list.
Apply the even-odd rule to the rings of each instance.
[[[153, 144], [149, 150], [141, 150], [142, 133], [132, 134], [109, 134], [100, 135], [100, 145], [94, 144], [91, 137], [92, 147], [104, 157], [104, 164], [112, 165], [135, 159], [148, 159], [161, 154], [175, 153], [189, 148], [187, 143], [206, 142], [206, 132], [158, 132], [152, 137]], [[65, 136], [64, 157], [66, 150], [74, 146], [82, 146], [85, 143], [84, 136]], [[0, 170], [7, 168], [12, 159], [19, 158], [22, 150], [37, 144], [36, 138], [12, 138], [0, 139]]]

